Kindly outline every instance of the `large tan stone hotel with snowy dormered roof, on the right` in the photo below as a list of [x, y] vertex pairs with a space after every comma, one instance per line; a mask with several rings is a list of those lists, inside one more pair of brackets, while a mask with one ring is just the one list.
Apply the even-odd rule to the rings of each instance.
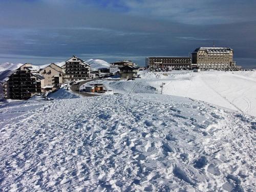
[[233, 61], [233, 50], [229, 47], [199, 47], [193, 53], [192, 63], [201, 69], [241, 69]]

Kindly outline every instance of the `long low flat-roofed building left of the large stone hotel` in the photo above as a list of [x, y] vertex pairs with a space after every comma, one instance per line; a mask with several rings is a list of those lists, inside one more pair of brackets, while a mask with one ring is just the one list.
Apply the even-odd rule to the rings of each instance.
[[146, 68], [190, 68], [190, 57], [146, 57]]

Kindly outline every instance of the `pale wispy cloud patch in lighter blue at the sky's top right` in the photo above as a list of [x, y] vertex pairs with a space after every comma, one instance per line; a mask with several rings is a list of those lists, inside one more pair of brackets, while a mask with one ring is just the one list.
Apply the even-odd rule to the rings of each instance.
[[212, 25], [255, 21], [255, 1], [223, 0], [130, 0], [121, 1], [132, 14], [186, 24]]

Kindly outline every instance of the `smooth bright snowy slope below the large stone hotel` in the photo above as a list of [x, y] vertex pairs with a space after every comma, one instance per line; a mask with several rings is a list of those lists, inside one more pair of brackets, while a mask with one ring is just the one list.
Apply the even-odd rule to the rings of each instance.
[[103, 81], [115, 92], [160, 93], [193, 98], [256, 116], [256, 71], [173, 71], [151, 73], [140, 71], [135, 81]]

